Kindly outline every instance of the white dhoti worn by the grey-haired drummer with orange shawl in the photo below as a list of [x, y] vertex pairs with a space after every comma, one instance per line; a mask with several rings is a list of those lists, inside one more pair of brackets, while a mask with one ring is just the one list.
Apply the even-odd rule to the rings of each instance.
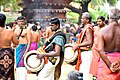
[[79, 71], [83, 73], [83, 80], [89, 80], [90, 64], [92, 61], [92, 51], [81, 52], [81, 60]]

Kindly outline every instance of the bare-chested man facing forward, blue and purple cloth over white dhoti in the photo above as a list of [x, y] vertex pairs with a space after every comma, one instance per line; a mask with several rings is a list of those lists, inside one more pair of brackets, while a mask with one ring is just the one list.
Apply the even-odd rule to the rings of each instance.
[[24, 67], [24, 55], [29, 51], [31, 45], [31, 31], [26, 29], [25, 17], [20, 16], [17, 18], [18, 27], [15, 34], [19, 38], [19, 45], [16, 48], [16, 72], [17, 80], [26, 80], [27, 70]]

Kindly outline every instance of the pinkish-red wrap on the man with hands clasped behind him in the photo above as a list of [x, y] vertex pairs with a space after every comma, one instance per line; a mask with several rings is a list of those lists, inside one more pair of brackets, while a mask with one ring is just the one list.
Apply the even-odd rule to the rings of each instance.
[[[120, 57], [120, 52], [108, 53], [106, 55], [111, 62], [114, 62]], [[111, 72], [106, 64], [100, 59], [97, 80], [120, 80], [120, 71]]]

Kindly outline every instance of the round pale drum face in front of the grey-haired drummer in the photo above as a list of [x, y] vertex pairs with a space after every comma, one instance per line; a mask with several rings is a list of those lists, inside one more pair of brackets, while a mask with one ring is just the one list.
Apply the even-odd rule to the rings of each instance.
[[67, 63], [71, 63], [74, 62], [77, 59], [78, 56], [78, 52], [77, 51], [73, 51], [72, 47], [66, 47], [65, 48], [65, 52], [64, 52], [64, 60]]

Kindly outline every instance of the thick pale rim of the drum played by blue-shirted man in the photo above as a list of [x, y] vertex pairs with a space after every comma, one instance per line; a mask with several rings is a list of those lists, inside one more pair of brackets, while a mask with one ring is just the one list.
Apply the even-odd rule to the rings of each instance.
[[42, 62], [39, 64], [39, 66], [37, 66], [37, 67], [35, 67], [35, 68], [30, 67], [30, 66], [28, 65], [28, 63], [27, 63], [27, 60], [28, 60], [28, 58], [29, 58], [30, 55], [33, 55], [33, 54], [34, 54], [34, 55], [37, 55], [38, 53], [40, 53], [40, 52], [37, 51], [37, 50], [32, 50], [32, 51], [27, 52], [26, 55], [25, 55], [25, 57], [24, 57], [24, 65], [25, 65], [25, 67], [26, 67], [28, 70], [30, 70], [31, 72], [40, 71], [40, 70], [43, 68], [43, 66], [44, 66], [44, 59], [42, 59]]

